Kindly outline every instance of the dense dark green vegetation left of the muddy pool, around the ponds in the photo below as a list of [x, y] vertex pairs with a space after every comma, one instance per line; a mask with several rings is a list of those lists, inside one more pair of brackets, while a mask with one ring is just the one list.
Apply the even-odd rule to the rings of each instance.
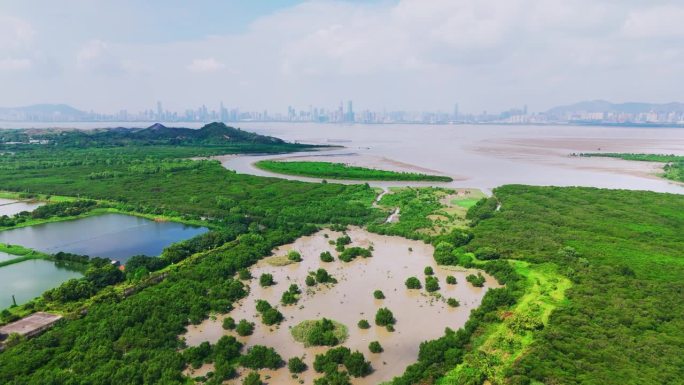
[[[4, 133], [4, 132], [3, 132]], [[53, 142], [56, 143], [56, 142]], [[364, 185], [305, 184], [237, 175], [213, 161], [182, 158], [240, 151], [289, 151], [276, 144], [197, 143], [132, 146], [12, 145], [0, 157], [6, 190], [105, 200], [123, 211], [203, 221], [206, 237], [169, 247], [165, 279], [130, 293], [107, 286], [74, 308], [69, 320], [0, 353], [0, 383], [184, 384], [189, 364], [178, 336], [210, 312], [223, 313], [245, 295], [232, 277], [278, 245], [319, 224], [380, 220], [375, 192]], [[218, 236], [217, 236], [218, 235]], [[165, 257], [168, 256], [168, 257]], [[105, 283], [107, 276], [93, 275]], [[79, 302], [79, 301], [76, 301]], [[39, 299], [22, 306], [34, 310]], [[240, 321], [238, 334], [252, 332]], [[230, 375], [226, 363], [210, 381]]]

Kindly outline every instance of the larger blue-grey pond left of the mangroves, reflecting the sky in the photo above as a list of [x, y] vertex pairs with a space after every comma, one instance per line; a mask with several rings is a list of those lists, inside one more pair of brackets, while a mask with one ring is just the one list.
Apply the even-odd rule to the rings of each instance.
[[125, 263], [134, 255], [157, 256], [164, 247], [207, 232], [176, 222], [155, 222], [123, 214], [103, 214], [73, 221], [0, 231], [0, 243], [46, 253], [64, 251]]

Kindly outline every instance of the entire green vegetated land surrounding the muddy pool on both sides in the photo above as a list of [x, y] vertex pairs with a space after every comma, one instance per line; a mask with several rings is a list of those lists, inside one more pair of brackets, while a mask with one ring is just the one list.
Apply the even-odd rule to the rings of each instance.
[[[504, 186], [473, 205], [470, 229], [437, 231], [437, 220], [429, 217], [444, 210], [441, 189], [387, 194], [381, 202], [401, 207], [402, 216], [384, 224], [382, 213], [371, 208], [375, 192], [364, 185], [255, 178], [217, 162], [182, 159], [239, 146], [251, 151], [258, 143], [135, 141], [123, 147], [86, 141], [86, 149], [68, 143], [49, 150], [3, 147], [12, 154], [0, 157], [0, 186], [199, 221], [212, 231], [167, 248], [158, 260], [135, 258], [125, 273], [88, 261], [84, 278], [23, 305], [25, 312], [59, 308], [67, 319], [39, 337], [13, 340], [0, 353], [0, 383], [186, 384], [183, 369], [213, 362], [214, 375], [206, 380], [218, 384], [237, 365], [280, 367], [284, 361], [269, 348], [241, 355], [231, 337], [188, 348], [178, 336], [246, 295], [234, 278], [250, 278], [246, 267], [275, 246], [331, 223], [340, 231], [367, 224], [373, 231], [423, 239], [435, 246], [438, 263], [480, 268], [505, 284], [487, 291], [463, 328], [421, 344], [418, 362], [395, 385], [675, 384], [684, 378], [682, 196]], [[57, 218], [67, 206], [44, 209], [44, 219]], [[345, 246], [342, 252], [349, 250]], [[334, 280], [325, 270], [309, 278], [313, 285], [319, 278]], [[267, 312], [278, 318], [266, 305], [260, 305], [262, 319]], [[380, 323], [392, 326], [391, 312], [380, 310]], [[2, 322], [10, 319], [7, 314], [0, 315]], [[235, 329], [249, 335], [254, 325], [241, 320]], [[316, 384], [345, 384], [350, 375], [370, 371], [361, 353], [345, 349], [316, 357], [314, 369], [323, 373]]]

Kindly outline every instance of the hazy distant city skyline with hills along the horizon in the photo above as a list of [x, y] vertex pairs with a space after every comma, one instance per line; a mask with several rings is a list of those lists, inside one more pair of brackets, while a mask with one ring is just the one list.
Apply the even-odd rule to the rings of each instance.
[[267, 109], [250, 111], [218, 102], [218, 109], [203, 104], [196, 108], [170, 111], [162, 101], [136, 112], [120, 110], [115, 114], [81, 111], [64, 104], [42, 104], [21, 108], [0, 107], [4, 122], [314, 122], [314, 123], [607, 123], [607, 124], [669, 124], [684, 126], [684, 103], [622, 103], [593, 100], [556, 106], [547, 111], [532, 112], [525, 104], [501, 112], [463, 112], [454, 103], [450, 112], [441, 110], [354, 109], [352, 100], [340, 101], [336, 107], [309, 105], [298, 109], [288, 106], [286, 112]]

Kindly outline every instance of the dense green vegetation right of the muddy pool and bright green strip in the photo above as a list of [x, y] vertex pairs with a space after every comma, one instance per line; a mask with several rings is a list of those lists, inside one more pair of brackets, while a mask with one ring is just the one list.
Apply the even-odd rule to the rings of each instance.
[[[572, 287], [554, 312], [539, 313], [544, 303], [532, 302], [521, 313], [541, 314], [545, 327], [533, 333], [534, 342], [505, 372], [497, 374], [493, 361], [484, 372], [471, 363], [471, 371], [515, 383], [644, 384], [684, 378], [684, 197], [529, 186], [501, 187], [495, 195], [501, 210], [479, 214], [485, 219], [474, 228], [468, 248], [488, 246], [505, 258], [551, 264]], [[558, 278], [546, 285], [550, 275], [536, 273], [541, 267], [530, 270], [534, 266], [519, 267], [536, 277], [528, 293], [540, 283], [542, 297], [563, 287]], [[496, 349], [483, 347], [480, 362], [506, 349], [493, 354]]]

